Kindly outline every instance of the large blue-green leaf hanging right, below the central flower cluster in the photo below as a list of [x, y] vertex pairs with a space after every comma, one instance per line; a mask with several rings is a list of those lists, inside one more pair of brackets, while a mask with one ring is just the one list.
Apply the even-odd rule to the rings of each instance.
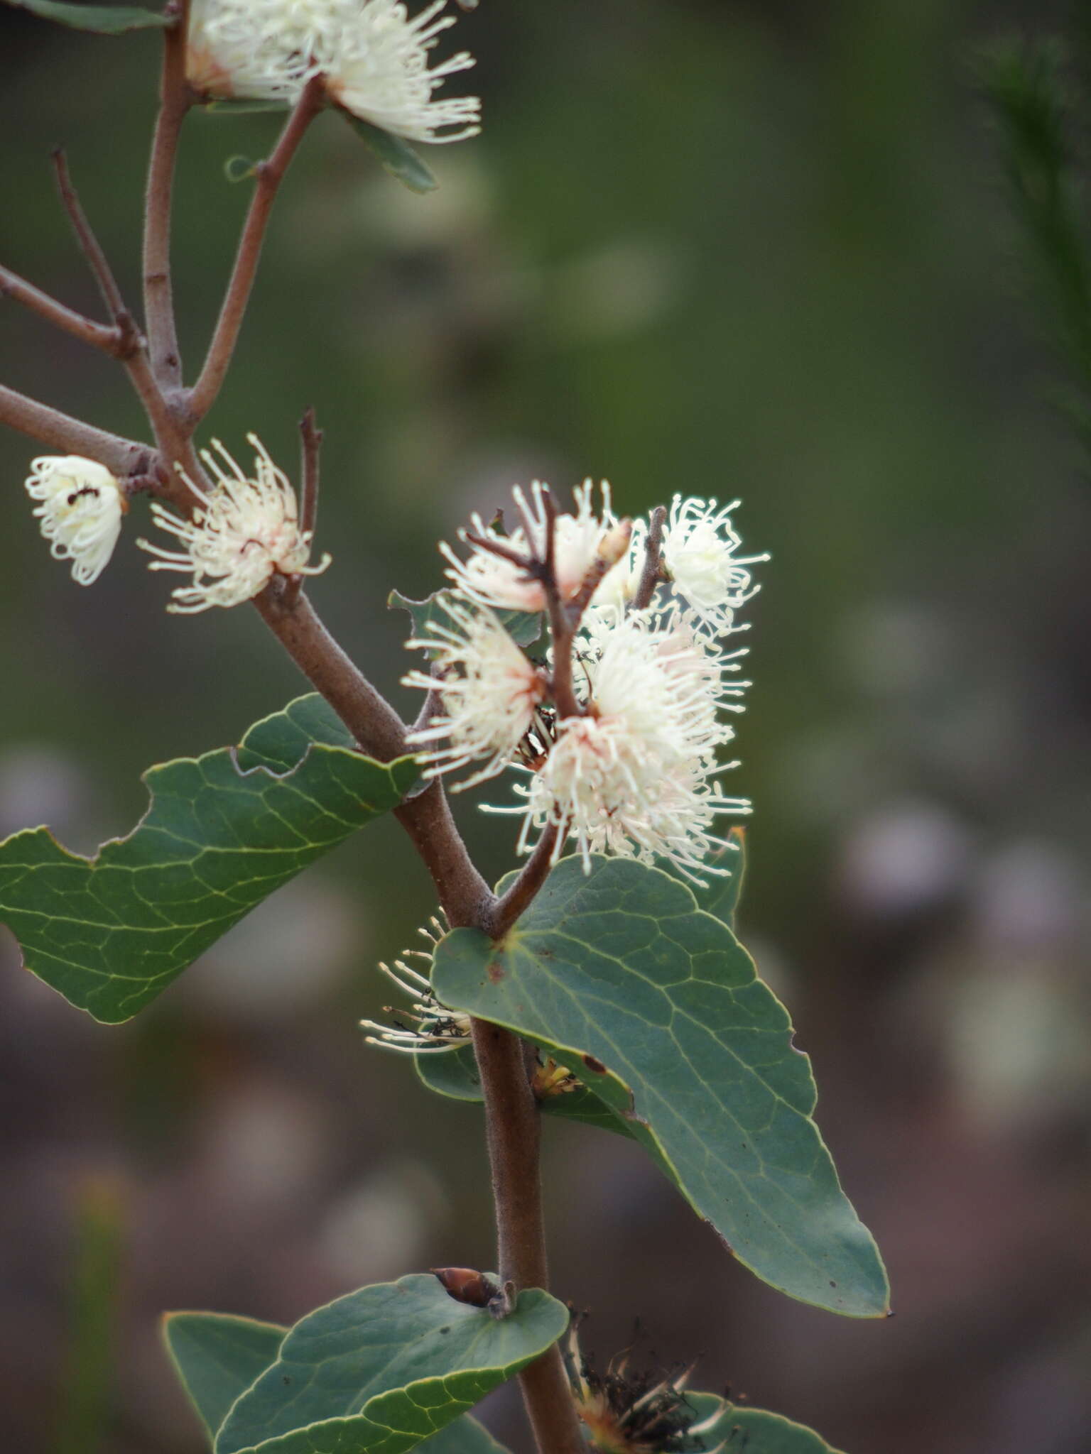
[[758, 1277], [854, 1317], [887, 1312], [879, 1250], [812, 1112], [810, 1061], [727, 925], [631, 859], [563, 859], [499, 945], [436, 948], [444, 1005], [570, 1066]]

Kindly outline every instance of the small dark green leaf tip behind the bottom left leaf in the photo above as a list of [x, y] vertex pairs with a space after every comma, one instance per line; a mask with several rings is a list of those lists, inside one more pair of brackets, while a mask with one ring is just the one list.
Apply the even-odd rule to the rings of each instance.
[[163, 1319], [170, 1359], [212, 1438], [239, 1394], [276, 1359], [287, 1332], [230, 1313], [167, 1313]]

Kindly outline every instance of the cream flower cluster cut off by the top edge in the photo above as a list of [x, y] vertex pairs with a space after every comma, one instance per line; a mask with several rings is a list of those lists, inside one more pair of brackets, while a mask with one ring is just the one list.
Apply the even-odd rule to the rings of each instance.
[[353, 116], [415, 141], [461, 141], [480, 131], [477, 96], [435, 100], [467, 51], [429, 70], [429, 52], [455, 17], [433, 0], [410, 19], [400, 0], [193, 0], [186, 77], [201, 96], [298, 99], [313, 76]]

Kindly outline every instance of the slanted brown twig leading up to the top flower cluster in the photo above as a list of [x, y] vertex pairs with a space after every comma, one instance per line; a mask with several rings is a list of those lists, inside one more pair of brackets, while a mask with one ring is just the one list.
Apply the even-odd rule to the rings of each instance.
[[231, 355], [239, 342], [239, 330], [246, 314], [246, 304], [250, 300], [257, 260], [262, 256], [262, 241], [265, 227], [269, 221], [276, 192], [279, 190], [284, 173], [295, 156], [295, 150], [303, 141], [307, 126], [321, 111], [323, 79], [313, 76], [303, 90], [291, 116], [285, 122], [281, 138], [268, 161], [259, 161], [256, 169], [256, 185], [250, 199], [250, 211], [246, 215], [243, 236], [239, 240], [231, 281], [227, 285], [224, 304], [220, 310], [215, 333], [208, 346], [201, 377], [189, 394], [189, 414], [193, 420], [202, 419], [215, 403], [217, 394], [227, 375]]

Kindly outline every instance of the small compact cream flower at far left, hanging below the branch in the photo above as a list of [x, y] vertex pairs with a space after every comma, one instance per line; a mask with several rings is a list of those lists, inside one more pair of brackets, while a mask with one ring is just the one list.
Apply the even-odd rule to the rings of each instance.
[[121, 535], [128, 502], [121, 486], [95, 459], [39, 455], [31, 462], [26, 493], [54, 560], [71, 561], [71, 579], [90, 586], [106, 569]]

